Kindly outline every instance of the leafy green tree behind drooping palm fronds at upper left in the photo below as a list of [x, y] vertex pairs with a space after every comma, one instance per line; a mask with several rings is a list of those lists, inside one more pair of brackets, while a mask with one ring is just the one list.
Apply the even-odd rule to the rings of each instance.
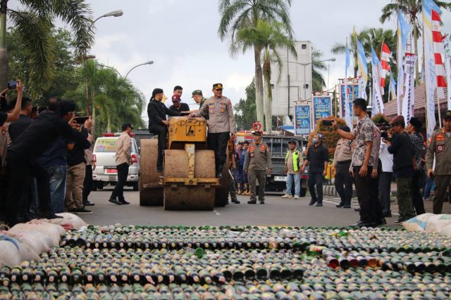
[[[49, 82], [47, 89], [35, 90], [35, 86], [30, 86], [30, 53], [23, 48], [22, 36], [18, 33], [18, 30], [10, 28], [8, 31], [8, 64], [9, 64], [9, 76], [11, 79], [20, 78], [25, 85], [25, 95], [42, 95], [37, 96], [35, 100], [46, 105], [46, 101], [51, 96], [63, 96], [66, 91], [74, 90], [81, 82], [81, 78], [78, 77], [77, 67], [78, 63], [75, 58], [73, 49], [73, 40], [70, 37], [70, 32], [63, 29], [51, 30], [50, 39], [55, 47], [55, 67], [54, 75]], [[30, 88], [29, 88], [30, 86]]]

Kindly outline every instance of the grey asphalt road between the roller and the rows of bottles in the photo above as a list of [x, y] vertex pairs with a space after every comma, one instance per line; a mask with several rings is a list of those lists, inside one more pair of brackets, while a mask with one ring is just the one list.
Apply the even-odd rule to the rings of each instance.
[[[283, 199], [283, 194], [266, 195], [265, 204], [247, 204], [249, 196], [238, 196], [241, 204], [230, 203], [226, 207], [217, 207], [214, 211], [165, 211], [163, 207], [140, 207], [139, 192], [127, 188], [125, 199], [129, 205], [116, 205], [108, 202], [113, 187], [92, 192], [89, 201], [94, 202], [93, 214], [80, 215], [93, 225], [111, 225], [114, 223], [134, 225], [183, 225], [183, 226], [349, 226], [356, 223], [359, 213], [354, 209], [336, 208], [340, 200], [325, 197], [323, 207], [310, 207], [309, 197], [299, 200]], [[307, 194], [308, 195], [308, 194]], [[355, 200], [352, 207], [358, 207]], [[393, 211], [397, 211], [393, 208]], [[388, 226], [393, 226], [397, 214], [387, 218]]]

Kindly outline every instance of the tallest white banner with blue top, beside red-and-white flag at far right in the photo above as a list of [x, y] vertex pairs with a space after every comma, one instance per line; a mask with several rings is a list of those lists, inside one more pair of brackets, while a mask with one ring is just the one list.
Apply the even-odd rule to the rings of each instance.
[[426, 84], [426, 133], [431, 136], [435, 129], [434, 91], [437, 84], [435, 78], [435, 58], [432, 35], [432, 10], [440, 11], [433, 0], [423, 0], [423, 39], [424, 39], [424, 82]]

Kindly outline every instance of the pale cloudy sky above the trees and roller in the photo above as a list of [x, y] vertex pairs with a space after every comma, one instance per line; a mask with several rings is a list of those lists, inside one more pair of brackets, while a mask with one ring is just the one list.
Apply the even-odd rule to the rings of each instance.
[[[211, 84], [222, 82], [224, 95], [237, 102], [245, 98], [245, 87], [254, 75], [253, 53], [231, 58], [228, 41], [218, 38], [217, 0], [88, 0], [94, 18], [122, 9], [118, 18], [96, 22], [96, 41], [91, 53], [100, 63], [115, 67], [125, 75], [131, 67], [154, 60], [154, 65], [137, 67], [130, 72], [132, 81], [146, 96], [162, 88], [171, 96], [173, 86], [183, 86], [185, 102], [194, 89], [211, 95]], [[395, 29], [395, 20], [381, 25], [381, 8], [388, 0], [292, 0], [290, 15], [295, 39], [309, 40], [323, 51], [330, 63], [330, 84], [344, 77], [344, 56], [333, 56], [335, 42], [345, 42], [352, 27]], [[451, 13], [443, 14], [445, 29], [451, 33]], [[327, 73], [325, 74], [327, 80]], [[147, 116], [146, 116], [147, 119]]]

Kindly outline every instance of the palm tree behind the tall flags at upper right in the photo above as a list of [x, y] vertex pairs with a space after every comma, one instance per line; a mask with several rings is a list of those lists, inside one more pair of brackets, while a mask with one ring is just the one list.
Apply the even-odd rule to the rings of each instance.
[[[433, 0], [440, 8], [451, 10], [451, 3], [449, 1]], [[392, 0], [392, 3], [385, 5], [382, 8], [382, 15], [379, 20], [381, 23], [389, 21], [391, 18], [397, 18], [397, 11], [402, 11], [404, 15], [410, 20], [410, 24], [414, 28], [414, 47], [415, 54], [418, 56], [418, 38], [419, 28], [421, 27], [421, 8], [422, 0]], [[418, 60], [415, 65], [416, 81], [419, 80]]]

